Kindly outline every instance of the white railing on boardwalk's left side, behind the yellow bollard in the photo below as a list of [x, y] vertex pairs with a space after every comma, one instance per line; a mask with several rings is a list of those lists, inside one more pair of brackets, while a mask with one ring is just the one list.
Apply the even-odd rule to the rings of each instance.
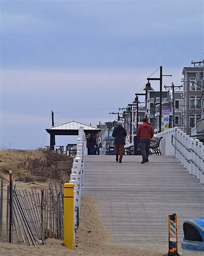
[[79, 128], [79, 135], [77, 138], [77, 155], [74, 158], [74, 162], [71, 169], [69, 183], [74, 184], [74, 229], [79, 227], [80, 220], [80, 202], [81, 202], [81, 190], [83, 186], [83, 168], [85, 161], [86, 150], [86, 136], [83, 131], [83, 127]]

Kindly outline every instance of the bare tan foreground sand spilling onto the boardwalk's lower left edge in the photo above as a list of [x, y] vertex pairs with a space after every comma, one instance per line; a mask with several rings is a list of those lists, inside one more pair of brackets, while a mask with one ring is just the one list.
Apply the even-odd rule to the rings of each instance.
[[104, 227], [100, 218], [96, 201], [93, 198], [83, 195], [80, 227], [75, 236], [74, 251], [67, 249], [62, 245], [62, 240], [54, 238], [46, 239], [44, 246], [24, 246], [9, 243], [0, 243], [0, 255], [3, 256], [164, 256], [164, 253], [158, 253], [144, 248], [130, 246], [109, 246], [108, 240], [111, 234]]

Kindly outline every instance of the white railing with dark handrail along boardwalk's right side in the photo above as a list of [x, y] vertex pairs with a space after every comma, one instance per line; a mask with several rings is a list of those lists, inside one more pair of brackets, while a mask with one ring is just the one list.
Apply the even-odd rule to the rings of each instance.
[[204, 145], [175, 127], [157, 134], [163, 137], [160, 143], [161, 154], [175, 156], [176, 159], [204, 184]]

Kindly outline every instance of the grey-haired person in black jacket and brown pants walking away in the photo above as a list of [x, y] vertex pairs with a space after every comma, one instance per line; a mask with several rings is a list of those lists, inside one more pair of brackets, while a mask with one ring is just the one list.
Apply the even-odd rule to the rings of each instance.
[[122, 125], [123, 123], [121, 121], [118, 121], [117, 126], [114, 128], [112, 133], [112, 136], [114, 137], [115, 155], [116, 155], [117, 162], [118, 162], [118, 155], [120, 155], [119, 163], [122, 163], [122, 158], [124, 154], [125, 137], [127, 136], [127, 132]]

